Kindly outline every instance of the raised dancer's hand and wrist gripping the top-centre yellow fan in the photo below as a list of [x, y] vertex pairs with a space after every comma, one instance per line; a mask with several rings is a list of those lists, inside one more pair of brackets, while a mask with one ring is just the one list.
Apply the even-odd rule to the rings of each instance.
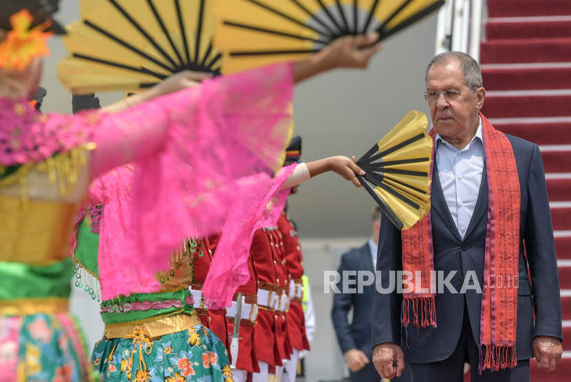
[[339, 37], [321, 52], [295, 63], [294, 80], [300, 82], [336, 67], [365, 69], [371, 57], [380, 50], [377, 40], [378, 32]]

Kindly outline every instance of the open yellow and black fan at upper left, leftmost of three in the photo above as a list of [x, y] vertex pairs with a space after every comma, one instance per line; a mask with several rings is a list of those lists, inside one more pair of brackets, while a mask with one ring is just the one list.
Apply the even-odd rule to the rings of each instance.
[[83, 0], [58, 76], [78, 94], [136, 93], [185, 69], [220, 73], [211, 0]]

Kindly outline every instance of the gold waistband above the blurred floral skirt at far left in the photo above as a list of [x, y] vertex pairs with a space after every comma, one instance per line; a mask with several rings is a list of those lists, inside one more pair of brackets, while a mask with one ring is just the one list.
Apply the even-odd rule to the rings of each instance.
[[0, 300], [0, 316], [52, 315], [69, 311], [69, 299], [61, 297]]

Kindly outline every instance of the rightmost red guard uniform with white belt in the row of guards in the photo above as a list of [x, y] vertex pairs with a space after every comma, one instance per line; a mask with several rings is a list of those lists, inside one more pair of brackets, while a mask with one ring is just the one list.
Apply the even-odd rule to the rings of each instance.
[[[282, 235], [283, 253], [290, 280], [290, 308], [286, 320], [288, 339], [292, 348], [310, 350], [308, 337], [305, 335], [305, 317], [301, 298], [303, 297], [303, 255], [297, 237], [297, 231], [286, 212], [282, 212], [277, 223]], [[293, 283], [292, 283], [293, 282]]]

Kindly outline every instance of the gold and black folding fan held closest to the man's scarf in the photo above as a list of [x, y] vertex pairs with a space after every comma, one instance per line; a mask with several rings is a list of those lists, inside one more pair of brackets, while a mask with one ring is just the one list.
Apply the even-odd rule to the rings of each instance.
[[[359, 181], [398, 229], [409, 229], [430, 209], [432, 138], [427, 116], [411, 111], [357, 165]], [[372, 186], [371, 186], [372, 185]]]

